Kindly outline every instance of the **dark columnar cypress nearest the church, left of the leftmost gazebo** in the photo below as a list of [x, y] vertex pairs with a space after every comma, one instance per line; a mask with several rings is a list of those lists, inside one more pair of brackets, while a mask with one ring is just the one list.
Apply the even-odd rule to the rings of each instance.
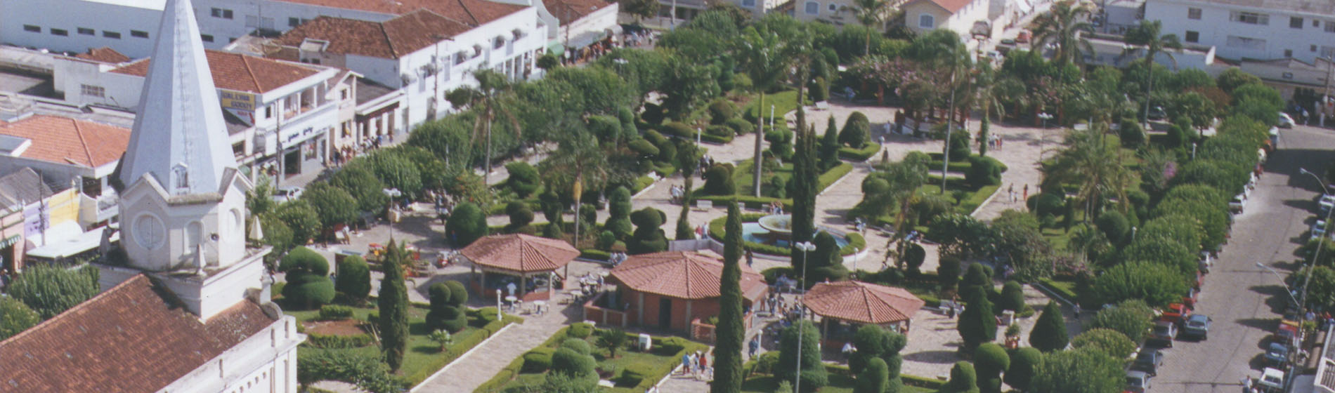
[[403, 352], [409, 344], [409, 290], [403, 285], [405, 250], [390, 240], [384, 257], [384, 278], [380, 278], [376, 305], [380, 313], [380, 352], [390, 370], [403, 365]]

